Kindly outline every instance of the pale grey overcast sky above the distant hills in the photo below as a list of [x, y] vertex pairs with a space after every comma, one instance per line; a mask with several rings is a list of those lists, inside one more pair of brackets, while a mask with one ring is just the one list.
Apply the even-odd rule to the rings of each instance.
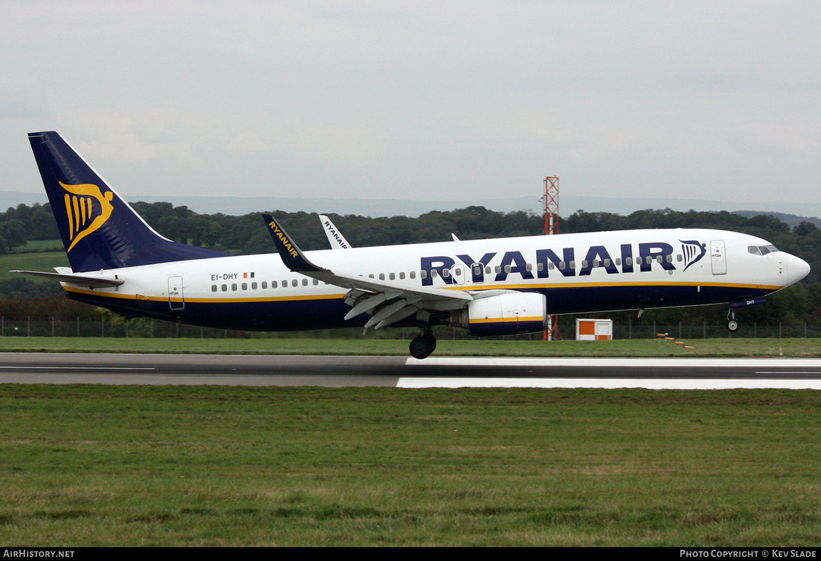
[[0, 7], [0, 189], [821, 203], [821, 2]]

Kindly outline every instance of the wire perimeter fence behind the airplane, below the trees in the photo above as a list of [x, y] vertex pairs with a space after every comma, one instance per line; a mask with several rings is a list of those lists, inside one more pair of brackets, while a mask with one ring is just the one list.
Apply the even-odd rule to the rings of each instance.
[[[575, 322], [570, 318], [560, 322], [559, 332], [562, 339], [575, 339]], [[137, 337], [137, 338], [173, 338], [187, 337], [195, 339], [251, 339], [251, 338], [345, 338], [345, 339], [412, 339], [418, 331], [414, 327], [396, 327], [385, 330], [369, 330], [363, 334], [361, 327], [333, 329], [322, 331], [291, 331], [267, 333], [256, 331], [232, 331], [212, 327], [186, 326], [181, 323], [162, 322], [144, 318], [131, 321], [111, 321], [100, 319], [99, 322], [78, 320], [42, 319], [7, 319], [0, 317], [0, 336], [3, 337]], [[436, 326], [434, 335], [438, 339], [467, 339], [476, 337], [468, 335], [465, 330], [456, 327]], [[821, 325], [802, 323], [798, 325], [782, 324], [751, 325], [742, 324], [738, 331], [731, 333], [724, 326], [676, 324], [638, 324], [613, 325], [614, 339], [655, 339], [658, 334], [666, 333], [678, 339], [718, 339], [718, 338], [793, 338], [821, 337]], [[505, 335], [482, 337], [484, 340], [539, 340], [540, 333], [527, 335]]]

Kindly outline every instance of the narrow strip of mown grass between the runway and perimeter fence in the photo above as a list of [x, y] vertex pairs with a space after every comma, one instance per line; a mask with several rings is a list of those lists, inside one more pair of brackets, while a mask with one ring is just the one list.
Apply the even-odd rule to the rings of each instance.
[[[658, 340], [527, 341], [439, 340], [433, 356], [477, 357], [785, 357], [821, 356], [821, 339], [687, 340], [695, 349]], [[0, 352], [346, 354], [404, 356], [407, 340], [369, 339], [150, 339], [99, 337], [0, 337]]]

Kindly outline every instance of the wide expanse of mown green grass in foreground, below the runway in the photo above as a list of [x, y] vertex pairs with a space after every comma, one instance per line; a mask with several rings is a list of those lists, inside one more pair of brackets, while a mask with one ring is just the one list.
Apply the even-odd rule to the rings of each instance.
[[813, 391], [0, 385], [4, 545], [819, 545]]

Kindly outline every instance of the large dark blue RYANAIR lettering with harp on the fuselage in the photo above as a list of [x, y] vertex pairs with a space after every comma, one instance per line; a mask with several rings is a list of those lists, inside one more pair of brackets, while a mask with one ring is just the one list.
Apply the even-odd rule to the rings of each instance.
[[[548, 278], [551, 270], [554, 275], [588, 276], [597, 267], [603, 268], [609, 275], [634, 271], [647, 272], [652, 271], [654, 262], [665, 271], [675, 271], [677, 267], [674, 263], [682, 267], [682, 270], [686, 270], [707, 253], [706, 244], [698, 240], [680, 239], [679, 241], [681, 242], [681, 253], [676, 258], [673, 258], [675, 249], [666, 242], [635, 244], [638, 246], [635, 263], [634, 244], [620, 244], [618, 251], [615, 252], [615, 258], [605, 246], [591, 245], [579, 263], [578, 269], [575, 248], [563, 248], [561, 256], [553, 249], [537, 249], [535, 262], [528, 262], [520, 251], [507, 251], [502, 254], [493, 280], [504, 282], [507, 276], [512, 274], [521, 275], [523, 280]], [[484, 282], [486, 267], [498, 253], [484, 253], [480, 258], [467, 254], [456, 255], [458, 262], [445, 255], [420, 258], [420, 270], [427, 273], [423, 275], [422, 285], [433, 285], [433, 278], [436, 276], [440, 276], [447, 285], [456, 284], [451, 269], [459, 263], [463, 263], [471, 271], [473, 282]]]

